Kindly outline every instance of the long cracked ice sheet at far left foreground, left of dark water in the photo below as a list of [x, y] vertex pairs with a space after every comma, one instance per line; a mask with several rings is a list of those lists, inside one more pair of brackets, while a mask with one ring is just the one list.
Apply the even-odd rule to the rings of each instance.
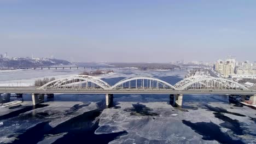
[[[72, 112], [71, 107], [74, 105], [85, 104], [79, 101], [50, 101], [43, 104], [48, 104], [48, 106], [21, 113], [13, 118], [3, 119], [1, 121], [3, 125], [0, 126], [0, 143], [9, 143], [15, 140], [16, 137], [23, 133], [22, 131], [39, 123], [49, 122], [51, 127], [56, 127], [71, 118], [82, 115], [84, 112], [97, 109], [96, 103], [90, 103], [89, 106], [84, 106]], [[48, 113], [48, 115], [42, 116], [40, 113]], [[68, 115], [65, 115], [67, 113]]]

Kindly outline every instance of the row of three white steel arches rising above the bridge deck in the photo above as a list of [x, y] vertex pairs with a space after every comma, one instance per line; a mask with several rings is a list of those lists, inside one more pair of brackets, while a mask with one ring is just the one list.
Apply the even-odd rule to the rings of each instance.
[[154, 77], [130, 77], [110, 86], [107, 82], [98, 79], [95, 76], [75, 75], [50, 81], [39, 89], [104, 89], [104, 90], [199, 90], [208, 89], [209, 91], [218, 89], [220, 91], [248, 90], [245, 86], [229, 79], [212, 76], [192, 76], [177, 82], [174, 86], [168, 82], [156, 79]]

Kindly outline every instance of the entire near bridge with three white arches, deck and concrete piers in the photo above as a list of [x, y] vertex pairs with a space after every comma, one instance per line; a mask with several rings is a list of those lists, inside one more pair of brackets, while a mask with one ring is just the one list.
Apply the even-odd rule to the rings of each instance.
[[41, 103], [44, 95], [54, 97], [56, 93], [106, 94], [106, 105], [113, 100], [113, 94], [170, 94], [178, 106], [182, 105], [183, 94], [239, 94], [244, 100], [256, 103], [256, 91], [229, 79], [212, 76], [192, 76], [171, 85], [155, 77], [128, 77], [110, 86], [95, 76], [74, 75], [50, 81], [42, 87], [0, 87], [0, 93], [31, 94], [33, 104]]

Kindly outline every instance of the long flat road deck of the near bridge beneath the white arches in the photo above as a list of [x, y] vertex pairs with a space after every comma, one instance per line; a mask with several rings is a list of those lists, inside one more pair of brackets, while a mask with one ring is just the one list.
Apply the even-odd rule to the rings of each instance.
[[65, 94], [256, 94], [255, 89], [88, 89], [88, 88], [56, 88], [38, 89], [37, 87], [0, 87], [0, 93], [65, 93]]

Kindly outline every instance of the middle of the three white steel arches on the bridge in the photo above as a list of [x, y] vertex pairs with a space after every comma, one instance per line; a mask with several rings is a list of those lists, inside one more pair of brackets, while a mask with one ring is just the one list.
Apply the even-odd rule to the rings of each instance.
[[[152, 87], [153, 86], [152, 82], [156, 82], [156, 87], [155, 88], [159, 88], [158, 86], [161, 85], [163, 88], [168, 88], [169, 87], [170, 89], [173, 89], [173, 90], [176, 89], [176, 87], [172, 86], [170, 83], [159, 80], [159, 79], [156, 79], [154, 77], [131, 77], [131, 78], [126, 78], [126, 79], [121, 80], [118, 83], [116, 83], [110, 89], [117, 89], [119, 86], [123, 86], [124, 83], [131, 82], [131, 81], [136, 81], [136, 87], [135, 88], [137, 88], [137, 81], [138, 80], [141, 80], [141, 85], [143, 85], [142, 87], [146, 86], [146, 84], [144, 84], [144, 80], [146, 80], [146, 81], [149, 80], [148, 88], [153, 88]], [[147, 82], [147, 85], [148, 85], [148, 82]], [[129, 84], [129, 87], [130, 87], [130, 84]]]

